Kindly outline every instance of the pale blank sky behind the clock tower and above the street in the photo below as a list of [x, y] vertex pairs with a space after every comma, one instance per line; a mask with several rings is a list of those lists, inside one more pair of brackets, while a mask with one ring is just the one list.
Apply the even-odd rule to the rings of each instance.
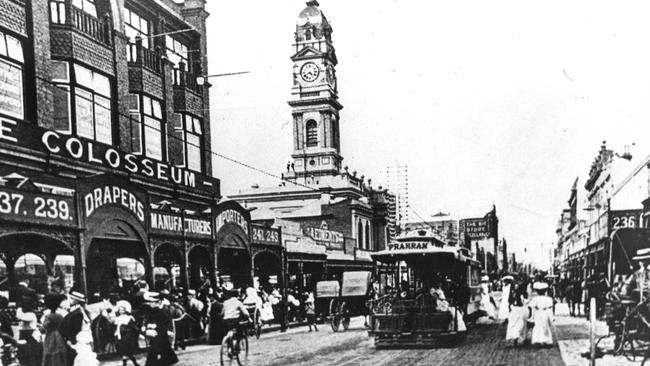
[[[279, 175], [292, 148], [297, 0], [208, 0], [212, 149]], [[603, 140], [650, 154], [650, 4], [645, 1], [321, 0], [333, 27], [343, 165], [384, 180], [409, 166], [409, 200], [480, 217], [541, 253], [576, 177]], [[224, 195], [275, 186], [215, 158]], [[533, 254], [534, 257], [534, 254]]]

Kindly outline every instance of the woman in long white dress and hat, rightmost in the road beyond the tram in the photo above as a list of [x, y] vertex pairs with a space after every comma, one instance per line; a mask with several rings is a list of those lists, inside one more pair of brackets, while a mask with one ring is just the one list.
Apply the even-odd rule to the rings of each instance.
[[531, 343], [538, 346], [553, 344], [553, 299], [546, 296], [548, 285], [537, 282], [533, 285], [537, 296], [528, 303], [531, 317], [535, 325], [531, 335]]

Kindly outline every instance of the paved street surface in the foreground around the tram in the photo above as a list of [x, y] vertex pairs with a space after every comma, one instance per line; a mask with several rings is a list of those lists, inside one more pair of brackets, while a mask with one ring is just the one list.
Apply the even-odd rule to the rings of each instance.
[[[547, 349], [512, 348], [503, 341], [505, 327], [499, 325], [474, 329], [456, 348], [422, 350], [377, 350], [363, 328], [361, 318], [354, 319], [347, 332], [333, 333], [327, 327], [308, 332], [306, 327], [287, 333], [264, 334], [251, 342], [249, 364], [254, 366], [287, 365], [564, 365], [557, 347]], [[196, 346], [180, 355], [180, 365], [219, 365], [218, 346]], [[121, 362], [105, 363], [120, 365]]]

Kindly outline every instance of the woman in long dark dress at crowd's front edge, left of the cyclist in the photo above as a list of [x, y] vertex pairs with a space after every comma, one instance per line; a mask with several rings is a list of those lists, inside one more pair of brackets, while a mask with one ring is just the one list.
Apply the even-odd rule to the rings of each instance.
[[163, 309], [160, 294], [146, 292], [142, 296], [148, 307], [144, 322], [144, 335], [149, 339], [149, 351], [145, 366], [170, 366], [178, 362], [176, 352], [169, 340], [172, 317]]

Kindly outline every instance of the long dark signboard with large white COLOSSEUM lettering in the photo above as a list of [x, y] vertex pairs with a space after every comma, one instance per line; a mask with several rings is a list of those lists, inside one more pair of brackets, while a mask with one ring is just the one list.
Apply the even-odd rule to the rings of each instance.
[[0, 141], [190, 189], [219, 189], [219, 180], [216, 178], [141, 155], [125, 153], [97, 141], [36, 127], [31, 123], [0, 119]]

